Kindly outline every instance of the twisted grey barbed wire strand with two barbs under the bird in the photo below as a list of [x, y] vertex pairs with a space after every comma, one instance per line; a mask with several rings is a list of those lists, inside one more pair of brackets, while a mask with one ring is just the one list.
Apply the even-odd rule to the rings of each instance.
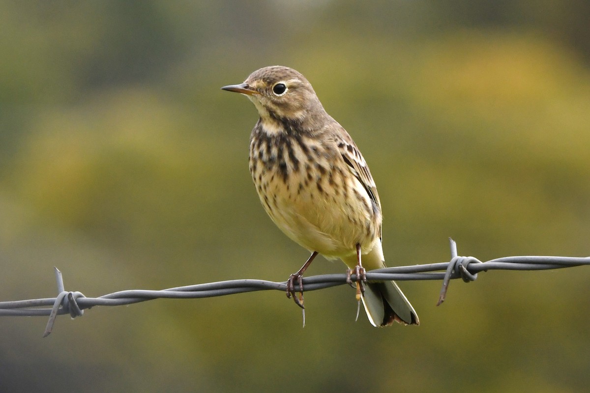
[[[568, 256], [507, 256], [481, 262], [472, 256], [458, 256], [457, 243], [450, 240], [451, 260], [449, 262], [425, 265], [385, 267], [366, 272], [369, 281], [386, 280], [442, 280], [437, 306], [445, 300], [450, 280], [461, 278], [464, 282], [477, 279], [477, 273], [487, 270], [549, 270], [590, 265], [590, 257]], [[444, 272], [439, 272], [444, 270]], [[353, 274], [350, 278], [355, 281]], [[285, 292], [286, 282], [257, 279], [227, 280], [196, 285], [179, 286], [162, 290], [129, 289], [109, 293], [98, 298], [87, 298], [81, 292], [65, 290], [63, 277], [55, 267], [58, 295], [55, 298], [12, 300], [0, 302], [0, 316], [49, 316], [43, 334], [48, 336], [57, 315], [69, 313], [72, 318], [84, 314], [84, 309], [94, 306], [121, 306], [153, 299], [200, 299], [256, 290], [281, 290]], [[330, 288], [346, 283], [346, 273], [327, 274], [303, 278], [304, 290]], [[51, 308], [40, 308], [52, 306]]]

